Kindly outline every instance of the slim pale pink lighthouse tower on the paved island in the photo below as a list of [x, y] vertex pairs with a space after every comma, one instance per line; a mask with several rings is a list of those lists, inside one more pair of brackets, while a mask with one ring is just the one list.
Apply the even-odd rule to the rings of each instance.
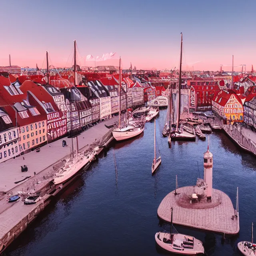
[[212, 198], [212, 153], [209, 151], [209, 143], [207, 151], [204, 153], [204, 181], [206, 182], [207, 199]]

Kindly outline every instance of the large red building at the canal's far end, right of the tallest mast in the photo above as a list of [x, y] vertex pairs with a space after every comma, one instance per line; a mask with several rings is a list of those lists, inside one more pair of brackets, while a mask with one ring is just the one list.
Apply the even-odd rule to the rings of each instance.
[[209, 110], [216, 91], [220, 91], [218, 81], [190, 81], [189, 108], [191, 110]]

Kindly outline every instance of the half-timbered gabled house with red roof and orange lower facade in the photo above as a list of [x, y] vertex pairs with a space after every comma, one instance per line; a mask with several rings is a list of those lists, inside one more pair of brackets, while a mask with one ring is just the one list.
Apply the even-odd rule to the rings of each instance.
[[231, 122], [231, 124], [244, 121], [242, 100], [232, 90], [216, 91], [212, 100], [212, 111]]

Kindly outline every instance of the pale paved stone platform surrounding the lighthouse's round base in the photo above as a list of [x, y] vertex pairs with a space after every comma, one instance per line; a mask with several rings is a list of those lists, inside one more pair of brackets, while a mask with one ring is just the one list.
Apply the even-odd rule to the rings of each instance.
[[[192, 190], [193, 187], [178, 188], [177, 193], [184, 193], [184, 189]], [[202, 230], [209, 230], [216, 233], [237, 234], [239, 232], [239, 213], [235, 217], [233, 204], [224, 192], [212, 189], [212, 193], [221, 196], [221, 203], [217, 206], [198, 208], [184, 208], [177, 203], [178, 197], [170, 192], [160, 203], [157, 214], [166, 221], [170, 222], [171, 207], [173, 208], [173, 223]], [[182, 204], [180, 204], [182, 205]], [[193, 205], [193, 204], [192, 204]], [[191, 206], [192, 206], [191, 205]], [[234, 216], [234, 217], [233, 217]]]

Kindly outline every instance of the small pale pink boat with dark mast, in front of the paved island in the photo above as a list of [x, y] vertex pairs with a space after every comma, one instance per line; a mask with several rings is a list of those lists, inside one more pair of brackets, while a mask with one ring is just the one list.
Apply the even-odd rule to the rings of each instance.
[[[171, 208], [171, 211], [173, 209]], [[172, 214], [172, 213], [171, 213]], [[176, 230], [177, 231], [177, 230]], [[194, 238], [180, 233], [172, 233], [172, 215], [171, 230], [169, 232], [157, 232], [155, 234], [156, 243], [169, 252], [184, 255], [204, 254], [203, 243]]]

